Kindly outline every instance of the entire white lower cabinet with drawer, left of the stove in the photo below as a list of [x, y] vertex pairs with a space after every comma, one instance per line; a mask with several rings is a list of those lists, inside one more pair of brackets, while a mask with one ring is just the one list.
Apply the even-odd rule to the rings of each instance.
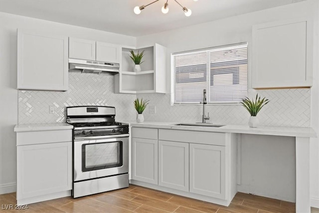
[[70, 196], [71, 190], [72, 130], [17, 132], [17, 204]]

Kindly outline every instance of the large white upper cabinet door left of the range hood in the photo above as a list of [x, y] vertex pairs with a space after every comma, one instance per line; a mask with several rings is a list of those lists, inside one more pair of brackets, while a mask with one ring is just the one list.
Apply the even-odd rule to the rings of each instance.
[[17, 31], [17, 88], [68, 89], [68, 37]]

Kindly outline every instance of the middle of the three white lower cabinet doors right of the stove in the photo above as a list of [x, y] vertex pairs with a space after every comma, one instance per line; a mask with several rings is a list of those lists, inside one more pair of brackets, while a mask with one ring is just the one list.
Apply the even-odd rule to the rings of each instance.
[[159, 185], [188, 192], [189, 144], [159, 141]]

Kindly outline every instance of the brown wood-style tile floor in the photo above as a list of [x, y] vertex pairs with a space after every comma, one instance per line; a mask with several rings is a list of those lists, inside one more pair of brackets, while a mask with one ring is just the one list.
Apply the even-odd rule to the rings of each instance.
[[[82, 198], [29, 204], [28, 210], [2, 210], [16, 204], [15, 193], [0, 195], [0, 212], [17, 213], [295, 213], [295, 204], [237, 193], [229, 207], [210, 204], [135, 185]], [[312, 208], [312, 213], [319, 209]]]

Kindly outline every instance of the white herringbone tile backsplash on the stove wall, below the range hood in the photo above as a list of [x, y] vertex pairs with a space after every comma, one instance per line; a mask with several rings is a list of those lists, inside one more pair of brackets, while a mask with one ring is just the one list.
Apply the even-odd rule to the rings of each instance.
[[[136, 95], [114, 94], [114, 76], [69, 72], [69, 90], [18, 92], [18, 123], [65, 122], [66, 106], [114, 106], [116, 120], [135, 120], [133, 101]], [[55, 113], [49, 114], [49, 106]]]

